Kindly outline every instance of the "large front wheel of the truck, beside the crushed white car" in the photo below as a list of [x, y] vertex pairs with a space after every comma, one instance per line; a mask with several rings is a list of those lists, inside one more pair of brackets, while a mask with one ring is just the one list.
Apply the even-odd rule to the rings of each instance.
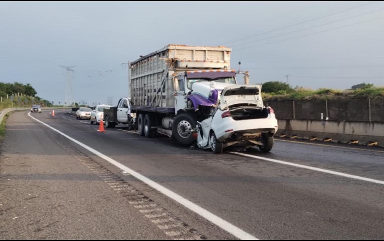
[[188, 113], [180, 114], [175, 118], [172, 136], [183, 145], [192, 145], [195, 141], [192, 135], [194, 128], [196, 128], [196, 120], [193, 116]]

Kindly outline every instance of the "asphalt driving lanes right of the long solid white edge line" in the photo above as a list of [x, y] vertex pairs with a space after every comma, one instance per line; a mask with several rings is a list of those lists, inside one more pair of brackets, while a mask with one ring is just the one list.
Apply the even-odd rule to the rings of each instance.
[[[260, 239], [383, 239], [383, 185], [36, 115]], [[65, 118], [65, 119], [64, 119]], [[383, 180], [383, 153], [276, 142], [282, 161]]]

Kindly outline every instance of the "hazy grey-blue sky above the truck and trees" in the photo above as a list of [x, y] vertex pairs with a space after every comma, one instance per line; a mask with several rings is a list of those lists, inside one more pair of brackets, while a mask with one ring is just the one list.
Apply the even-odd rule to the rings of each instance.
[[0, 2], [0, 81], [55, 103], [60, 65], [76, 66], [77, 102], [117, 102], [121, 63], [171, 43], [231, 47], [232, 69], [241, 61], [251, 83], [384, 86], [384, 2]]

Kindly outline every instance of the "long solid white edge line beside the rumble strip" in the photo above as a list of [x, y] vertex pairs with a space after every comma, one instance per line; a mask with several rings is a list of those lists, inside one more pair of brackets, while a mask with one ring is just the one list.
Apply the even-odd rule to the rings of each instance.
[[[192, 210], [193, 212], [195, 212], [196, 214], [200, 215], [201, 217], [205, 218], [206, 220], [208, 220], [209, 222], [217, 225], [218, 227], [220, 227], [221, 229], [225, 230], [226, 232], [232, 234], [233, 236], [235, 236], [236, 238], [238, 239], [241, 239], [241, 240], [257, 240], [255, 237], [253, 237], [252, 235], [246, 233], [245, 231], [237, 228], [236, 226], [228, 223], [227, 221], [223, 220], [222, 218], [212, 214], [211, 212], [201, 208], [200, 206], [192, 203], [191, 201], [187, 200], [186, 198], [180, 196], [179, 194], [176, 194], [175, 192], [169, 190], [168, 188], [152, 181], [151, 179], [143, 176], [142, 174], [132, 170], [131, 168], [113, 160], [112, 158], [110, 157], [107, 157], [105, 156], [104, 154], [96, 151], [95, 149], [91, 148], [91, 147], [88, 147], [87, 145], [77, 141], [76, 139], [62, 133], [61, 131], [45, 124], [44, 122], [40, 121], [40, 120], [37, 120], [36, 118], [32, 117], [29, 113], [28, 113], [29, 117], [31, 117], [32, 119], [34, 119], [35, 121], [43, 124], [44, 126], [50, 128], [51, 130], [59, 133], [60, 135], [64, 136], [65, 138], [71, 140], [72, 142], [78, 144], [79, 146], [87, 149], [89, 152], [99, 156], [100, 158], [104, 159], [105, 161], [108, 161], [110, 163], [112, 163], [113, 165], [117, 166], [118, 168], [124, 170], [124, 171], [127, 171], [129, 173], [131, 173], [131, 175], [133, 175], [134, 177], [136, 177], [137, 179], [141, 180], [142, 182], [146, 183], [147, 185], [155, 188], [156, 190], [158, 190], [159, 192], [163, 193], [164, 195], [166, 195], [167, 197], [175, 200], [176, 202], [182, 204], [183, 206], [185, 206], [186, 208]], [[148, 215], [148, 216], [151, 216], [151, 218], [156, 218], [156, 217], [161, 217], [161, 216], [156, 216], [156, 215]]]

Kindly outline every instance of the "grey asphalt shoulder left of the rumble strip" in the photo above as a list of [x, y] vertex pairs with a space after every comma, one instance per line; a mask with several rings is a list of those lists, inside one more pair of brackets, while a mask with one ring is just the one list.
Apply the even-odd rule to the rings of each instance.
[[0, 159], [1, 240], [170, 239], [59, 143], [25, 112], [8, 118]]

